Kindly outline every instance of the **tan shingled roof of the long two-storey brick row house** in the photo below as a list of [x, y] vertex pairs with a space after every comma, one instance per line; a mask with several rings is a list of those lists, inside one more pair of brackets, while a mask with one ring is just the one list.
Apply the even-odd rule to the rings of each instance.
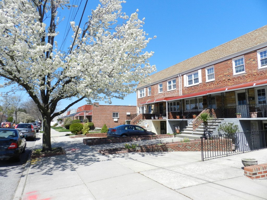
[[[249, 49], [264, 42], [267, 42], [267, 25], [152, 74], [150, 75], [151, 82], [157, 82], [173, 75], [183, 73], [184, 71], [205, 65], [209, 62]], [[141, 83], [138, 85], [138, 88], [144, 85], [146, 84]]]

